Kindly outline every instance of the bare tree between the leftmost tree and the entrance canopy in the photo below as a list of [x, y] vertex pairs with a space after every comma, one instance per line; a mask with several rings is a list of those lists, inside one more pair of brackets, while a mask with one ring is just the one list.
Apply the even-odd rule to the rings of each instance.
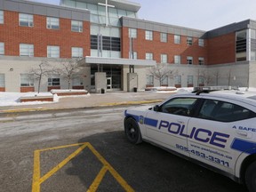
[[54, 71], [64, 77], [64, 79], [68, 82], [68, 89], [70, 89], [72, 76], [79, 68], [81, 68], [78, 64], [78, 60], [63, 59], [60, 60], [60, 66], [60, 68], [56, 68]]

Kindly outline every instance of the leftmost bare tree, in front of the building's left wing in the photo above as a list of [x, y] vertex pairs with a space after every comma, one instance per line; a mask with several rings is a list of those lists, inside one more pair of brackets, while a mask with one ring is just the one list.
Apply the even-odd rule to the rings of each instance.
[[49, 69], [49, 66], [50, 65], [47, 60], [42, 60], [37, 68], [31, 68], [29, 70], [29, 74], [32, 74], [35, 77], [35, 79], [38, 81], [38, 87], [37, 87], [38, 93], [40, 92], [42, 77], [48, 76], [48, 74], [51, 71], [51, 69]]

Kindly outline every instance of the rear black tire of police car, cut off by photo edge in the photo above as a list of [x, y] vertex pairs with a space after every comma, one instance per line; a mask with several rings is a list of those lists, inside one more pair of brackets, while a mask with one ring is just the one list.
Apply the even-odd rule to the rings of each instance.
[[248, 166], [245, 172], [245, 184], [250, 192], [256, 192], [256, 162]]

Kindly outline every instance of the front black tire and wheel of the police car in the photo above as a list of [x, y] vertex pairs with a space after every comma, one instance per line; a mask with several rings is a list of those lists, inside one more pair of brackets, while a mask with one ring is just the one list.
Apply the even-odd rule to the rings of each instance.
[[126, 138], [133, 144], [139, 144], [142, 142], [140, 127], [133, 118], [127, 118], [124, 120], [124, 132]]

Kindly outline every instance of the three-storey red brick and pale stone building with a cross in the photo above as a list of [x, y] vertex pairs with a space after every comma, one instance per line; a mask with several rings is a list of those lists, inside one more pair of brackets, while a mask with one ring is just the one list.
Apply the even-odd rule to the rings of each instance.
[[[64, 68], [77, 60], [74, 89], [239, 85], [256, 87], [256, 21], [211, 31], [140, 20], [125, 0], [62, 0], [59, 5], [0, 0], [0, 92], [68, 89]], [[107, 8], [106, 8], [107, 7]], [[162, 78], [152, 71], [161, 67]], [[155, 68], [155, 69], [154, 69]], [[159, 69], [159, 68], [158, 68]]]

